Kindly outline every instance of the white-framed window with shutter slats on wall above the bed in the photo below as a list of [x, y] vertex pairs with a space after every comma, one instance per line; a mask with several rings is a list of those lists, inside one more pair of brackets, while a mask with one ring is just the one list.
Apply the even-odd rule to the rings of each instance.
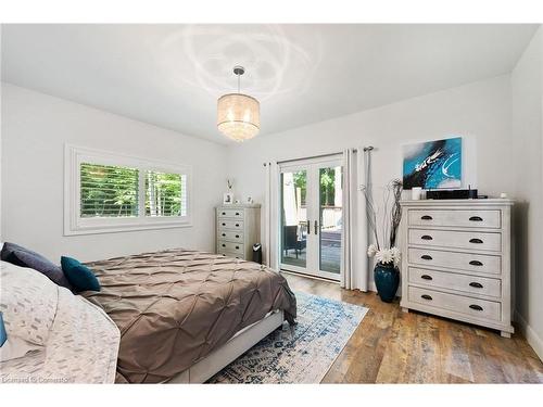
[[189, 166], [66, 145], [64, 234], [190, 226]]

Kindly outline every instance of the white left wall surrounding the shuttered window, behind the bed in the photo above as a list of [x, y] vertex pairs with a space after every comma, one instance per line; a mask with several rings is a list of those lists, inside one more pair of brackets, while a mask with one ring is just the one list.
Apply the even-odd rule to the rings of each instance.
[[[81, 260], [167, 247], [214, 250], [225, 147], [2, 84], [2, 239], [51, 259]], [[63, 237], [64, 143], [192, 165], [190, 228]]]

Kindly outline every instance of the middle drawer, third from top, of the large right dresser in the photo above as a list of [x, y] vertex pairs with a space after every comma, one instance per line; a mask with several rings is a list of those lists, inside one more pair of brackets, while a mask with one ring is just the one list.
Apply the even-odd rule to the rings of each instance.
[[407, 257], [409, 264], [422, 267], [438, 266], [496, 276], [502, 272], [502, 257], [500, 256], [409, 247]]

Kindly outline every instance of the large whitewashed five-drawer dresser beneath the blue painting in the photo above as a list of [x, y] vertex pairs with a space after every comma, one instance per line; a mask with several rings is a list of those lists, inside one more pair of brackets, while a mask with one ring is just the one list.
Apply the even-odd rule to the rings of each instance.
[[401, 205], [403, 310], [493, 328], [509, 338], [513, 201], [421, 200]]

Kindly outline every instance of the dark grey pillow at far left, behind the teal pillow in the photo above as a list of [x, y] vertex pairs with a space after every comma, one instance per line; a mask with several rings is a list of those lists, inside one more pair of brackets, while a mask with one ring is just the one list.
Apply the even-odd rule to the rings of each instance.
[[15, 266], [33, 268], [49, 278], [49, 280], [55, 284], [73, 291], [73, 287], [66, 279], [66, 276], [64, 276], [62, 268], [48, 260], [41, 254], [20, 246], [18, 244], [5, 242], [0, 253], [0, 258]]

